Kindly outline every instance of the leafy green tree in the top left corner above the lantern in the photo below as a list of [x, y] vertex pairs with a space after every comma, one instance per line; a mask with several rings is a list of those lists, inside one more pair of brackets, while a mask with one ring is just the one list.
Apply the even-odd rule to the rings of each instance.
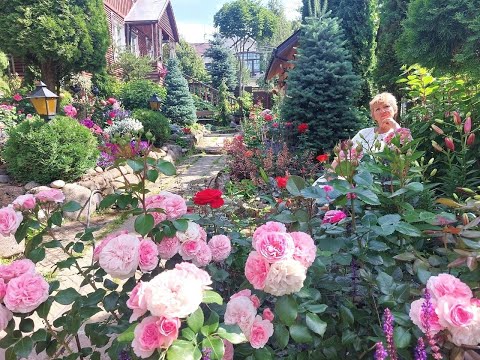
[[2, 2], [0, 49], [38, 66], [51, 89], [72, 72], [105, 67], [109, 34], [102, 0]]

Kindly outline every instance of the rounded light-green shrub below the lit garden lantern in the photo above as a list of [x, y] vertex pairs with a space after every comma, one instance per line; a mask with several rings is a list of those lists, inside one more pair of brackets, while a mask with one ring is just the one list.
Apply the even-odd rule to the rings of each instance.
[[76, 120], [57, 116], [23, 121], [9, 132], [3, 150], [8, 172], [17, 181], [41, 184], [72, 181], [95, 166], [97, 140]]

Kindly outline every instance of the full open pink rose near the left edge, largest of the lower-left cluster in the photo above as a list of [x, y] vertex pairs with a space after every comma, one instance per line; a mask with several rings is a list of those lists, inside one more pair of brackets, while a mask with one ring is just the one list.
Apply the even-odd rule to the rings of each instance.
[[43, 276], [25, 273], [8, 282], [3, 302], [7, 309], [22, 314], [35, 310], [48, 298], [48, 283]]

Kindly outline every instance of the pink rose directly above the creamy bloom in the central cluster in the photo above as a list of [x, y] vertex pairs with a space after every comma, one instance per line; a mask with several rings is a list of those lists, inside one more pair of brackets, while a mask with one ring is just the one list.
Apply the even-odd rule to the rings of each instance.
[[295, 245], [287, 233], [263, 232], [257, 237], [256, 249], [269, 263], [291, 258]]

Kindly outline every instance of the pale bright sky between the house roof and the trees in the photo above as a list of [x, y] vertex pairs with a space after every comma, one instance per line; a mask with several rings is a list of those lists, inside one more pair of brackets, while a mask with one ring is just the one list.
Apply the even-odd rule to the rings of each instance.
[[[206, 42], [214, 32], [213, 16], [228, 0], [171, 0], [180, 36], [190, 43]], [[266, 4], [266, 0], [263, 0]], [[299, 17], [302, 0], [282, 0], [289, 19]]]

